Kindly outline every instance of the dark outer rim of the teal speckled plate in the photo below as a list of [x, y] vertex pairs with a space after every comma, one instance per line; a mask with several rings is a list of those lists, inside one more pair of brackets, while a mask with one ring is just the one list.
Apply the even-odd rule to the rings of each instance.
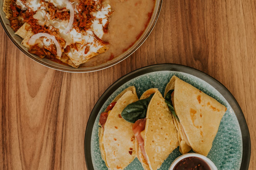
[[[242, 136], [242, 160], [240, 165], [240, 170], [248, 169], [250, 164], [250, 157], [251, 157], [251, 139], [250, 139], [250, 133], [249, 128], [247, 125], [247, 122], [245, 120], [244, 114], [242, 112], [242, 109], [240, 108], [237, 100], [234, 98], [234, 96], [230, 93], [230, 91], [221, 84], [218, 80], [216, 80], [214, 77], [197, 70], [195, 68], [181, 65], [181, 64], [174, 64], [174, 63], [163, 63], [163, 64], [154, 64], [146, 67], [142, 67], [139, 69], [136, 69], [130, 73], [127, 73], [126, 75], [122, 76], [118, 80], [116, 80], [112, 85], [110, 85], [104, 93], [100, 96], [96, 104], [94, 105], [88, 122], [86, 126], [85, 136], [84, 136], [84, 156], [86, 160], [86, 166], [88, 170], [94, 169], [92, 164], [92, 158], [91, 158], [91, 136], [92, 136], [92, 129], [95, 122], [95, 119], [97, 118], [98, 113], [96, 112], [100, 106], [104, 104], [104, 102], [110, 97], [110, 95], [121, 85], [126, 83], [127, 81], [130, 81], [134, 79], [135, 77], [138, 77], [140, 75], [156, 72], [156, 71], [178, 71], [187, 73], [193, 76], [198, 77], [199, 79], [207, 82], [212, 87], [214, 87], [230, 104], [231, 108], [234, 110], [234, 113], [237, 117], [240, 130], [241, 130], [241, 136]], [[97, 113], [97, 114], [96, 114]], [[86, 154], [90, 153], [90, 154]]]

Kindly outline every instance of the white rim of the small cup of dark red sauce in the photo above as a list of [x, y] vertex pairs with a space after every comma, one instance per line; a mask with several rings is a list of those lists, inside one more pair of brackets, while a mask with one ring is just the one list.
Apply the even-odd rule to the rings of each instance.
[[208, 165], [209, 167], [211, 168], [211, 170], [218, 170], [217, 167], [215, 166], [215, 164], [209, 159], [207, 158], [206, 156], [204, 155], [201, 155], [199, 153], [185, 153], [183, 155], [180, 155], [178, 158], [176, 158], [173, 163], [171, 164], [169, 170], [173, 170], [173, 168], [175, 167], [175, 165], [185, 159], [185, 158], [188, 158], [188, 157], [197, 157], [197, 158], [201, 158], [202, 160], [204, 160]]

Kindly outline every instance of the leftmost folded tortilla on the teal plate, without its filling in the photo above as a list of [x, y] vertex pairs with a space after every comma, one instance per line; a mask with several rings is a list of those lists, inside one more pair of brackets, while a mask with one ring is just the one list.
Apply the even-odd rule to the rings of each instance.
[[112, 101], [116, 104], [108, 115], [104, 129], [99, 128], [101, 156], [108, 169], [124, 169], [136, 156], [133, 123], [125, 121], [121, 113], [128, 104], [137, 100], [135, 87], [126, 88]]

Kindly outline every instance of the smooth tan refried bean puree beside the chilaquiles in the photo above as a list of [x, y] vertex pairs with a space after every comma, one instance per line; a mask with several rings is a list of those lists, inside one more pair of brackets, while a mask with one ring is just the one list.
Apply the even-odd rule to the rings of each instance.
[[120, 55], [133, 45], [145, 30], [155, 7], [155, 0], [105, 0], [111, 5], [108, 33], [102, 37], [109, 49], [80, 67], [97, 66]]

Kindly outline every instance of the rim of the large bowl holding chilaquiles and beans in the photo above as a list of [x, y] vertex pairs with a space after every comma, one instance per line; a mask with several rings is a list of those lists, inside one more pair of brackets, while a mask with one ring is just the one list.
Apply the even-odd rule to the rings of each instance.
[[[157, 1], [159, 1], [159, 3], [157, 4]], [[126, 58], [128, 58], [130, 55], [132, 55], [144, 42], [145, 40], [147, 39], [147, 37], [150, 35], [150, 33], [152, 32], [152, 30], [154, 29], [155, 27], [155, 24], [158, 20], [158, 17], [159, 17], [159, 14], [161, 12], [161, 8], [162, 8], [162, 2], [163, 0], [156, 0], [156, 4], [155, 4], [155, 7], [154, 7], [154, 10], [156, 10], [156, 16], [155, 18], [151, 18], [151, 24], [149, 23], [148, 26], [145, 28], [142, 36], [135, 41], [135, 43], [132, 45], [132, 47], [129, 48], [129, 52], [127, 52], [126, 54], [125, 53], [122, 53], [121, 55], [124, 55], [123, 57], [120, 57], [119, 59], [117, 59], [115, 62], [113, 63], [107, 63], [107, 64], [104, 64], [103, 66], [96, 66], [96, 67], [89, 67], [89, 69], [79, 69], [79, 68], [72, 68], [71, 66], [66, 66], [67, 68], [63, 68], [60, 66], [54, 66], [52, 64], [49, 64], [47, 62], [44, 62], [43, 60], [40, 60], [39, 58], [36, 57], [36, 55], [33, 55], [33, 54], [30, 54], [27, 50], [25, 50], [24, 48], [22, 48], [22, 45], [20, 43], [17, 43], [14, 39], [14, 36], [11, 35], [11, 33], [8, 31], [6, 25], [9, 25], [9, 23], [5, 23], [4, 22], [4, 19], [5, 19], [5, 14], [2, 10], [2, 6], [1, 5], [1, 12], [0, 12], [0, 23], [6, 33], [6, 35], [10, 38], [10, 40], [12, 41], [12, 43], [20, 50], [22, 51], [23, 54], [25, 54], [27, 57], [29, 57], [30, 59], [36, 61], [37, 63], [43, 65], [43, 66], [46, 66], [48, 68], [51, 68], [51, 69], [54, 69], [54, 70], [58, 70], [58, 71], [63, 71], [63, 72], [70, 72], [70, 73], [87, 73], [87, 72], [94, 72], [94, 71], [99, 71], [99, 70], [103, 70], [103, 69], [106, 69], [106, 68], [109, 68], [111, 66], [114, 66], [115, 64], [118, 64], [120, 63], [121, 61], [125, 60]], [[0, 4], [3, 4], [3, 1], [1, 1]], [[158, 6], [158, 8], [156, 9], [156, 6]], [[128, 51], [128, 50], [127, 50]], [[119, 57], [119, 56], [118, 56]], [[52, 61], [53, 62], [53, 61]], [[63, 65], [64, 66], [64, 65]]]

